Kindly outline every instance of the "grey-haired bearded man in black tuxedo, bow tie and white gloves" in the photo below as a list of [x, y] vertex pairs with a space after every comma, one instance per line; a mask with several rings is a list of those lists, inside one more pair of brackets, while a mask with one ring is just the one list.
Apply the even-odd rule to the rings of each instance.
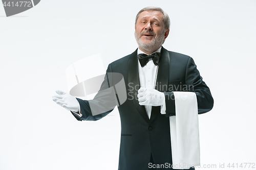
[[[161, 8], [140, 10], [135, 21], [135, 38], [139, 47], [132, 54], [109, 64], [106, 70], [107, 74], [120, 73], [126, 94], [133, 96], [118, 105], [121, 119], [119, 170], [147, 170], [153, 169], [153, 165], [158, 169], [157, 165], [172, 165], [169, 116], [176, 115], [173, 91], [195, 92], [199, 114], [213, 107], [210, 90], [194, 60], [167, 51], [162, 46], [168, 37], [169, 27], [169, 17]], [[106, 76], [101, 89], [108, 87], [110, 81]], [[104, 113], [92, 114], [89, 101], [62, 91], [56, 92], [58, 94], [53, 96], [53, 100], [71, 110], [78, 120], [98, 120], [113, 110], [112, 107]], [[108, 102], [98, 99], [97, 104], [102, 106]], [[164, 169], [173, 168], [165, 166]]]

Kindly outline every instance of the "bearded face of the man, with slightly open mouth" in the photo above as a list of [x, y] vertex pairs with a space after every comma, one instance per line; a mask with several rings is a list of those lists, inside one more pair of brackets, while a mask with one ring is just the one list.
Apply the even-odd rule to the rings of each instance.
[[135, 38], [141, 50], [157, 50], [167, 38], [169, 29], [164, 29], [160, 11], [143, 11], [137, 19]]

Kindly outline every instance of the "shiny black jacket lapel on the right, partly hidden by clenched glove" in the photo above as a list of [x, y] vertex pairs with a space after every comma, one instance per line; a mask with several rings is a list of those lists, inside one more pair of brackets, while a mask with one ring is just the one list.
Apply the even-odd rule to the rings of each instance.
[[[170, 57], [169, 52], [165, 50], [164, 47], [161, 49], [161, 57], [157, 72], [157, 81], [155, 89], [161, 92], [166, 92], [168, 89], [169, 80], [169, 67], [170, 67]], [[153, 106], [151, 111], [150, 123], [157, 117], [160, 113], [161, 106]]]

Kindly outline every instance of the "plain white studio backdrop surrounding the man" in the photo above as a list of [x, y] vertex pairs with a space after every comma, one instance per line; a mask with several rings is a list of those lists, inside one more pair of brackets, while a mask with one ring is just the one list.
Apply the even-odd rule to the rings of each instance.
[[199, 115], [201, 164], [256, 163], [256, 1], [42, 0], [12, 17], [0, 5], [0, 169], [118, 168], [117, 109], [78, 122], [52, 95], [73, 62], [100, 53], [106, 68], [134, 52], [146, 6], [168, 13], [163, 46], [194, 58], [215, 99]]

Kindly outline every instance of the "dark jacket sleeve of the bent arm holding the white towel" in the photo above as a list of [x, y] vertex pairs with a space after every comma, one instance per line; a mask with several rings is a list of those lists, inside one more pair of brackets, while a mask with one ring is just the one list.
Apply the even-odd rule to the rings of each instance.
[[[185, 71], [186, 91], [197, 95], [198, 114], [206, 113], [214, 106], [209, 87], [203, 81], [194, 60], [189, 57]], [[166, 116], [174, 116], [175, 96], [173, 92], [165, 92]]]

